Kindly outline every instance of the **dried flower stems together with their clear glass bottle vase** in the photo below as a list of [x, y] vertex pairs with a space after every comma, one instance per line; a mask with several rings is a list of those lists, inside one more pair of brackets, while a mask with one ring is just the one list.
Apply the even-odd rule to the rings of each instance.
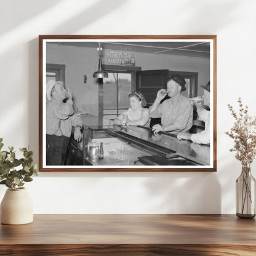
[[233, 138], [234, 145], [230, 151], [236, 151], [236, 159], [242, 164], [241, 175], [236, 180], [236, 215], [240, 218], [254, 218], [255, 212], [255, 178], [250, 174], [250, 164], [256, 156], [256, 118], [248, 114], [248, 106], [238, 99], [239, 113], [228, 104], [234, 118], [234, 126], [226, 135]]

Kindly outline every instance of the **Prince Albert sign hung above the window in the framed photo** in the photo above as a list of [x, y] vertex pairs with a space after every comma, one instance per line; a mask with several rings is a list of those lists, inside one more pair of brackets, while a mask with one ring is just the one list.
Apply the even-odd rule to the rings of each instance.
[[130, 52], [116, 52], [105, 50], [105, 64], [106, 65], [122, 65], [122, 66], [135, 66], [136, 54]]

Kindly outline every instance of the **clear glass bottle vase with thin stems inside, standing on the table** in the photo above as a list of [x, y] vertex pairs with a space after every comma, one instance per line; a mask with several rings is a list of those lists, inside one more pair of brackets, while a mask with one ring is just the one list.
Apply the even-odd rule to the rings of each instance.
[[250, 173], [250, 167], [242, 167], [241, 175], [236, 180], [236, 216], [255, 217], [255, 178]]

